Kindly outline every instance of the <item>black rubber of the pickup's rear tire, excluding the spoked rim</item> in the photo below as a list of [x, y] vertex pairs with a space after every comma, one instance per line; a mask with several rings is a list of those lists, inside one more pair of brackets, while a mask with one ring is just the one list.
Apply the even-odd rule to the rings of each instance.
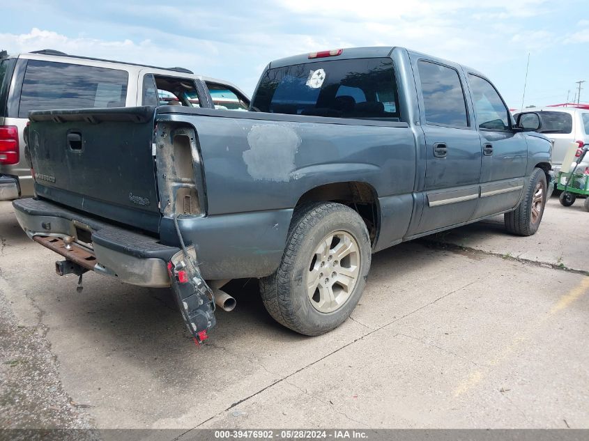
[[[307, 295], [307, 273], [316, 262], [313, 256], [316, 256], [317, 247], [333, 232], [351, 235], [355, 240], [358, 250], [356, 258], [359, 255], [359, 264], [355, 265], [358, 277], [347, 300], [342, 301], [335, 311], [325, 313], [317, 310], [312, 304], [314, 297], [312, 299]], [[263, 304], [278, 323], [300, 334], [315, 336], [329, 332], [350, 316], [360, 300], [370, 269], [370, 259], [368, 231], [357, 212], [341, 203], [332, 202], [302, 206], [294, 212], [280, 266], [274, 274], [260, 281]], [[328, 272], [331, 271], [328, 269]]]

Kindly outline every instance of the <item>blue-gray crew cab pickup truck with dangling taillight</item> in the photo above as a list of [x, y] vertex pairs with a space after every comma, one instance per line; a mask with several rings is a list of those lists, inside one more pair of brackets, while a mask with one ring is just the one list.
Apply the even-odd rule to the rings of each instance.
[[13, 203], [24, 231], [65, 257], [59, 274], [171, 286], [197, 341], [215, 303], [233, 306], [220, 288], [245, 277], [282, 325], [332, 330], [372, 253], [502, 213], [532, 235], [552, 179], [537, 115], [522, 127], [480, 72], [401, 47], [273, 61], [250, 111], [30, 120], [37, 196]]

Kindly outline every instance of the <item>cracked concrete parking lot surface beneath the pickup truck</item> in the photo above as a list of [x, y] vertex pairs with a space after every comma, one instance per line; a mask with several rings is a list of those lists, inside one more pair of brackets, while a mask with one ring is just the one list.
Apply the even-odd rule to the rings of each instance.
[[[169, 291], [86, 274], [76, 293], [0, 203], [3, 333], [39, 347], [0, 352], [0, 424], [26, 426], [34, 410], [33, 426], [589, 428], [577, 205], [551, 199], [530, 238], [497, 218], [374, 255], [351, 319], [324, 336], [277, 325], [255, 281], [234, 281], [237, 308], [198, 348]], [[11, 401], [30, 381], [54, 388], [45, 405]]]

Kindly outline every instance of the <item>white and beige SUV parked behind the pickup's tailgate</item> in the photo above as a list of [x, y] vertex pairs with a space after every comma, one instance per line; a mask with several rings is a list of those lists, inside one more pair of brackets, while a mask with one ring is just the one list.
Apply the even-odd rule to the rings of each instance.
[[155, 68], [72, 56], [45, 49], [10, 56], [0, 52], [0, 200], [33, 195], [24, 158], [29, 111], [183, 105], [215, 109], [222, 90], [247, 109], [250, 99], [229, 82], [183, 68]]

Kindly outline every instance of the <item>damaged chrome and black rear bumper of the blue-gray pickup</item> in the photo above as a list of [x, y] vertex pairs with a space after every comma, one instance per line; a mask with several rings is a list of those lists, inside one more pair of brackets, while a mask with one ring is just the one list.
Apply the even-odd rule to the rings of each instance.
[[[72, 247], [95, 257], [95, 263], [89, 265], [93, 271], [138, 286], [170, 286], [167, 262], [180, 251], [178, 248], [47, 201], [19, 199], [13, 206], [17, 221], [29, 238], [54, 237], [58, 245], [67, 236], [74, 238]], [[48, 248], [68, 258], [65, 247]]]

